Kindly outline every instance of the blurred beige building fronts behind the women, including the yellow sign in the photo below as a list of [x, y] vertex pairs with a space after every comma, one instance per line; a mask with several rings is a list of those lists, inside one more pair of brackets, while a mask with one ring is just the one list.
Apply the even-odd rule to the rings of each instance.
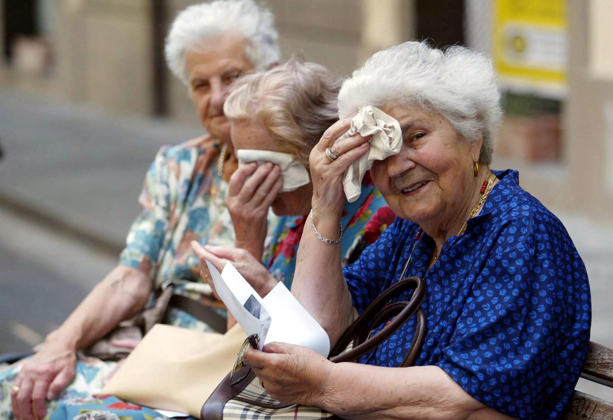
[[[0, 0], [0, 87], [114, 115], [197, 126], [166, 69], [164, 36], [188, 0]], [[409, 39], [495, 59], [506, 119], [497, 165], [547, 205], [613, 215], [611, 0], [267, 0], [283, 56], [347, 75]]]

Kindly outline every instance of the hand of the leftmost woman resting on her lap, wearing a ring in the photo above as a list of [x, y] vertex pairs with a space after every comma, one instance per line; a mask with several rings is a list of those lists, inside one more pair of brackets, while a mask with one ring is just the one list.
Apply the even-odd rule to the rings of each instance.
[[[43, 419], [47, 400], [55, 400], [75, 377], [75, 350], [61, 344], [45, 344], [36, 355], [23, 363], [12, 391], [13, 415], [16, 419]], [[36, 416], [36, 418], [35, 418]]]

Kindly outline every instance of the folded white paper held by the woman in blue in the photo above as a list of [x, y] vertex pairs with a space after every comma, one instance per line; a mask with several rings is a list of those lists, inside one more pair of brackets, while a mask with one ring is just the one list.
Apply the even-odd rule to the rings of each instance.
[[[283, 283], [262, 299], [231, 263], [221, 274], [207, 261], [217, 294], [247, 335], [258, 334], [259, 349], [270, 342], [303, 345], [327, 357], [330, 338]], [[251, 304], [246, 304], [251, 296]], [[260, 306], [257, 306], [257, 303]], [[247, 308], [259, 310], [255, 317]], [[257, 312], [255, 312], [257, 314]]]

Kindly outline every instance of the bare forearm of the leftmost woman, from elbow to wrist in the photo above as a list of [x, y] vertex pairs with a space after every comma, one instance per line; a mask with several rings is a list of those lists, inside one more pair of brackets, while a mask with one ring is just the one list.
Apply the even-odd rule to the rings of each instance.
[[115, 267], [45, 342], [70, 350], [88, 347], [147, 303], [151, 281], [130, 267]]

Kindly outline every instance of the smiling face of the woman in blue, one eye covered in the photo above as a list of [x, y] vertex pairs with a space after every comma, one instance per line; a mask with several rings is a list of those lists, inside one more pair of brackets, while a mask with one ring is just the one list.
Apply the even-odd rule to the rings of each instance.
[[375, 161], [375, 186], [401, 218], [445, 229], [473, 197], [481, 140], [466, 141], [441, 114], [421, 108], [384, 111], [400, 123], [403, 145], [397, 155]]

